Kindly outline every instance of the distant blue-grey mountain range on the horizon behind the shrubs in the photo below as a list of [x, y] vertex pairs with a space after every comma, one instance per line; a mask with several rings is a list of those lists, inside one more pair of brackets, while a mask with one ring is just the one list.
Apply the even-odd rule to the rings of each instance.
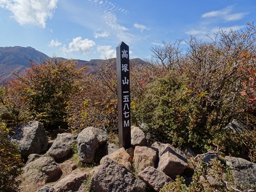
[[[13, 77], [14, 71], [20, 73], [30, 68], [29, 63], [31, 61], [40, 63], [42, 59], [46, 58], [50, 57], [32, 47], [0, 47], [0, 85]], [[145, 63], [145, 61], [139, 58], [131, 60], [142, 64]], [[90, 72], [94, 73], [95, 68], [105, 61], [104, 59], [92, 59], [90, 61], [78, 60], [78, 67], [88, 66], [90, 67]]]

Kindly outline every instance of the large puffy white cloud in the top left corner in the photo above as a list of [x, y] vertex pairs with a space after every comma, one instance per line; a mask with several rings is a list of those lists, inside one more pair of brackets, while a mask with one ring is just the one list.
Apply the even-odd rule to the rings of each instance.
[[0, 0], [0, 6], [12, 12], [12, 17], [20, 25], [46, 27], [46, 20], [51, 19], [57, 8], [58, 0]]

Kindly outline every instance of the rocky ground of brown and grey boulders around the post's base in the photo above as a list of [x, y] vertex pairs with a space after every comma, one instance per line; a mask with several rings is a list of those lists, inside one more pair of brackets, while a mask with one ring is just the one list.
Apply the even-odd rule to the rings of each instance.
[[[20, 176], [20, 191], [160, 191], [177, 175], [191, 182], [194, 170], [188, 156], [168, 143], [155, 142], [147, 146], [144, 133], [132, 126], [132, 147], [118, 148], [109, 142], [102, 129], [87, 127], [79, 134], [62, 133], [48, 141], [40, 123], [25, 123], [16, 127], [12, 140], [18, 143], [27, 160]], [[38, 155], [40, 154], [40, 155]], [[217, 154], [203, 156], [206, 163]], [[234, 182], [244, 191], [255, 191], [256, 164], [226, 157]], [[210, 175], [210, 185], [225, 187]], [[202, 178], [205, 179], [205, 178]]]

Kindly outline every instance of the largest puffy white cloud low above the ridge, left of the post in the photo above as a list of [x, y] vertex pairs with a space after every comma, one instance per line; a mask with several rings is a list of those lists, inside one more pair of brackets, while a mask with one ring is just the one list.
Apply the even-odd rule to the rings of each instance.
[[74, 51], [87, 54], [90, 53], [93, 47], [95, 46], [95, 42], [89, 39], [82, 39], [82, 37], [73, 38], [73, 41], [70, 42], [69, 48], [67, 49], [66, 46], [61, 48], [63, 53], [71, 53]]

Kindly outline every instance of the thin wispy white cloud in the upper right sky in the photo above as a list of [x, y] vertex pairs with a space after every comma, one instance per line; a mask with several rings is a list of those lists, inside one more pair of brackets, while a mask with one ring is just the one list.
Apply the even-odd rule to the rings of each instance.
[[228, 6], [217, 11], [210, 11], [202, 14], [202, 18], [216, 18], [225, 20], [226, 22], [236, 21], [242, 19], [247, 13], [232, 13], [233, 6]]

